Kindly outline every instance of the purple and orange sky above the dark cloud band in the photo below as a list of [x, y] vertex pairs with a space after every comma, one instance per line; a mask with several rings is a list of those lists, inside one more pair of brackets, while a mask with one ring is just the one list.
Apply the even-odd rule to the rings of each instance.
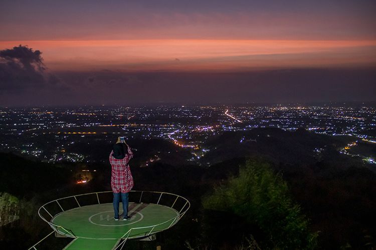
[[51, 70], [190, 71], [374, 66], [373, 0], [13, 1], [0, 49]]

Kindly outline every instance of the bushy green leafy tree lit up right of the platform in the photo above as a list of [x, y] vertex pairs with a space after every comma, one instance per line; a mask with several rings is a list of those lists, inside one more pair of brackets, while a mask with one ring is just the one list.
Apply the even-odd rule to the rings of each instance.
[[247, 160], [239, 175], [203, 199], [207, 209], [232, 212], [256, 224], [268, 235], [264, 248], [312, 249], [317, 232], [290, 195], [287, 183], [260, 158]]

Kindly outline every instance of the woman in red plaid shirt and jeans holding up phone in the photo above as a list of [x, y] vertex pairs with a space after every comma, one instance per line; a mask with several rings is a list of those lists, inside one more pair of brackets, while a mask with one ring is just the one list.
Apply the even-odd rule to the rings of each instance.
[[[127, 150], [124, 150], [127, 147]], [[127, 153], [125, 153], [127, 151]], [[111, 163], [111, 188], [114, 194], [114, 218], [119, 220], [119, 203], [120, 198], [123, 203], [123, 220], [128, 220], [128, 192], [133, 187], [133, 177], [130, 172], [128, 162], [132, 158], [133, 153], [124, 141], [124, 137], [118, 137], [116, 144], [113, 145], [110, 153]]]

